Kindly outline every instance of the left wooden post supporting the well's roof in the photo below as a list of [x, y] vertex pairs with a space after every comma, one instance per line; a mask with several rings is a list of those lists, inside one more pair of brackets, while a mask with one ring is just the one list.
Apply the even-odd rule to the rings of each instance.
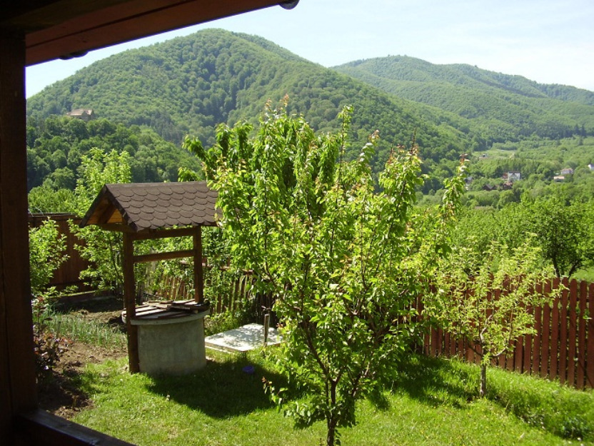
[[128, 335], [128, 365], [131, 373], [140, 372], [138, 327], [132, 325], [136, 316], [136, 284], [134, 283], [134, 238], [124, 232], [124, 304], [126, 305], [126, 333]]

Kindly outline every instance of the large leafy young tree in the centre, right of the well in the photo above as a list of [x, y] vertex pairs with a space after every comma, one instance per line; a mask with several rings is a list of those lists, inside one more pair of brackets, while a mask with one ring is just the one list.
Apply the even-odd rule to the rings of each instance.
[[443, 206], [421, 212], [416, 146], [394, 150], [374, 184], [377, 132], [357, 161], [342, 161], [350, 108], [341, 131], [316, 136], [285, 106], [268, 104], [254, 138], [245, 124], [219, 126], [215, 147], [191, 139], [186, 147], [218, 190], [233, 265], [276, 296], [281, 367], [308, 395], [286, 413], [302, 427], [325, 420], [334, 445], [338, 428], [355, 423], [356, 401], [378, 389], [415, 338], [413, 303], [446, 248], [463, 181], [449, 183]]

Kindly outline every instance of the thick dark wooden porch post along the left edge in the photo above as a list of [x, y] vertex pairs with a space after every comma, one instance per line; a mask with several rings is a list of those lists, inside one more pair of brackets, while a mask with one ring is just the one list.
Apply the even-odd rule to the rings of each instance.
[[24, 35], [0, 30], [0, 439], [37, 406], [25, 128]]

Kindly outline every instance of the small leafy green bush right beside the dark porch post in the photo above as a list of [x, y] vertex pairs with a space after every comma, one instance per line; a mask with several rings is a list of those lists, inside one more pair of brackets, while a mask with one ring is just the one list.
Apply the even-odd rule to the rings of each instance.
[[66, 239], [53, 220], [46, 220], [37, 228], [29, 229], [29, 265], [31, 268], [31, 294], [43, 295], [54, 271], [68, 256], [64, 253]]

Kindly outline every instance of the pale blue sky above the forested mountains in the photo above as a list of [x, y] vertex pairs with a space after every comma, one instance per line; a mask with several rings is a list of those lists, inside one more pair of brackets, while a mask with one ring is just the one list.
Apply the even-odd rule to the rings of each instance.
[[206, 28], [256, 34], [323, 66], [407, 55], [594, 91], [593, 0], [301, 0], [31, 66], [27, 96], [111, 54]]

